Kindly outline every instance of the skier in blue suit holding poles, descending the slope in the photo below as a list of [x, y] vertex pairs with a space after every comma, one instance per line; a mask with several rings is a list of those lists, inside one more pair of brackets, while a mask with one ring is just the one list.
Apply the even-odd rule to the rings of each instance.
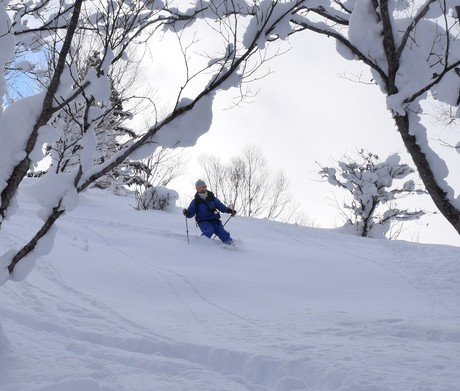
[[234, 241], [222, 225], [218, 211], [230, 213], [233, 217], [236, 210], [225, 206], [214, 196], [213, 192], [208, 191], [203, 180], [199, 179], [195, 183], [195, 188], [195, 198], [190, 202], [188, 209], [183, 210], [184, 216], [189, 219], [195, 216], [198, 227], [204, 236], [211, 238], [213, 234], [216, 234], [224, 244], [233, 245]]

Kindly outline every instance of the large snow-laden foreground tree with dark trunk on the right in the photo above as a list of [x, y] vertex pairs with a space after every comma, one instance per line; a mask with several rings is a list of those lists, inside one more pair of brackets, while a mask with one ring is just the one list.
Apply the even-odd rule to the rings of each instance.
[[458, 2], [307, 0], [296, 5], [286, 10], [283, 32], [274, 31], [271, 37], [301, 31], [332, 37], [340, 55], [369, 67], [426, 190], [460, 234], [460, 189], [452, 175], [458, 155], [449, 175], [445, 155], [422, 121], [427, 99], [451, 106], [460, 115]]

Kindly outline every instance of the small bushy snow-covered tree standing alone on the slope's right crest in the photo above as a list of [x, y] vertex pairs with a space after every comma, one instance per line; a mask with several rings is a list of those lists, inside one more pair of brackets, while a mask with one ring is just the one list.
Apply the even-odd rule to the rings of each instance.
[[358, 159], [344, 156], [336, 167], [321, 167], [319, 174], [331, 185], [350, 193], [350, 200], [343, 204], [346, 225], [353, 225], [355, 232], [363, 237], [384, 237], [396, 222], [417, 220], [422, 210], [400, 209], [396, 200], [425, 192], [416, 189], [412, 179], [401, 186], [394, 184], [412, 174], [407, 164], [400, 164], [397, 154], [384, 161], [370, 152], [360, 150]]

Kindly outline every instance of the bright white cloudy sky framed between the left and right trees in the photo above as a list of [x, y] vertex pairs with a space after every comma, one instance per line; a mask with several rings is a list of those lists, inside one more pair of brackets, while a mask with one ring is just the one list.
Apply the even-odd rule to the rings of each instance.
[[[313, 34], [292, 36], [283, 48], [288, 51], [265, 68], [271, 74], [251, 85], [258, 91], [252, 103], [228, 109], [237, 92], [217, 95], [212, 126], [196, 146], [187, 148], [190, 162], [186, 175], [171, 187], [179, 191], [186, 206], [202, 173], [197, 157], [213, 154], [225, 161], [240, 154], [245, 145], [255, 145], [273, 172], [285, 172], [295, 202], [316, 226], [340, 226], [343, 220], [336, 200], [341, 203], [348, 194], [321, 181], [318, 163], [334, 165], [344, 155], [355, 156], [357, 150], [364, 149], [381, 160], [397, 152], [401, 163], [414, 165], [387, 110], [385, 96], [369, 83], [371, 76], [365, 67], [343, 59], [332, 39]], [[357, 75], [362, 82], [357, 81]], [[436, 129], [434, 138], [459, 133], [434, 119], [429, 124]], [[404, 202], [400, 205], [407, 207]], [[413, 205], [429, 213], [436, 211], [428, 196], [412, 197]], [[458, 233], [444, 220], [439, 214], [430, 214], [406, 223], [400, 239], [460, 246]]]

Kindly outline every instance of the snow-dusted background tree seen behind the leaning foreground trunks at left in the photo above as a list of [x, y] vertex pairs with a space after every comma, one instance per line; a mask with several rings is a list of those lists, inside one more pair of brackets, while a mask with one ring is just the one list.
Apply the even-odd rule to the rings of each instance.
[[[89, 72], [99, 69], [101, 53], [91, 50], [89, 44], [79, 44], [78, 56], [73, 57], [74, 66], [78, 69], [79, 79], [76, 85], [86, 78]], [[80, 53], [82, 52], [82, 53]], [[49, 66], [52, 62], [49, 62]], [[110, 98], [108, 104], [96, 101], [92, 96], [83, 94], [83, 98], [71, 102], [55, 115], [51, 126], [59, 134], [59, 139], [46, 147], [50, 157], [49, 170], [55, 172], [72, 172], [81, 161], [83, 152], [82, 140], [89, 126], [93, 126], [96, 146], [94, 149], [94, 164], [101, 164], [117, 153], [123, 140], [135, 137], [135, 132], [129, 127], [129, 122], [135, 115], [133, 110], [126, 110], [130, 102], [128, 93], [135, 85], [135, 66], [125, 61], [123, 69], [113, 67], [110, 69], [108, 81], [110, 83]], [[121, 72], [124, 77], [119, 77]], [[49, 73], [52, 73], [49, 70]], [[91, 111], [99, 113], [94, 121], [88, 121]], [[93, 186], [102, 189], [111, 189], [115, 194], [126, 194], [125, 185], [130, 181], [128, 173], [129, 162], [123, 162], [113, 170], [98, 178]], [[135, 174], [133, 174], [135, 175]]]

